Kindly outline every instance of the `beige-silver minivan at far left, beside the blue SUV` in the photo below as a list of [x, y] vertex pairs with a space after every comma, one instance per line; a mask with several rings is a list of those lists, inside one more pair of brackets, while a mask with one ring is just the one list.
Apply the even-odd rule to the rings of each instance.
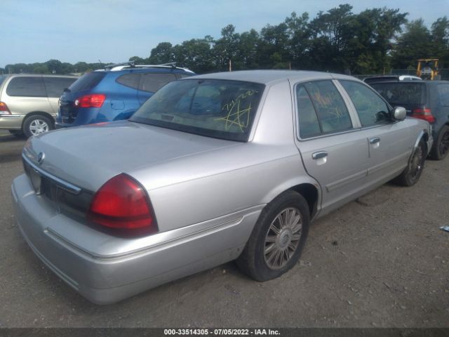
[[78, 77], [41, 74], [0, 75], [0, 129], [35, 136], [55, 128], [58, 100]]

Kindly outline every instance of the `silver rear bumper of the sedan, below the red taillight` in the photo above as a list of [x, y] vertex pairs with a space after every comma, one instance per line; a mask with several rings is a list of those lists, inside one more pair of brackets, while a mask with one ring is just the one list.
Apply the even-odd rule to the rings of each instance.
[[201, 223], [128, 239], [63, 216], [45, 197], [34, 194], [25, 175], [15, 178], [12, 194], [20, 231], [36, 256], [97, 304], [114, 303], [234, 260], [262, 209], [257, 206], [223, 217], [220, 225], [205, 227]]

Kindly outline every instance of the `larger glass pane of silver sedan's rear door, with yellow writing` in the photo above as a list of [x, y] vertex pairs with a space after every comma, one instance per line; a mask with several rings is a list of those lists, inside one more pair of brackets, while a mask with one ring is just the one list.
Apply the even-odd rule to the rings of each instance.
[[344, 100], [332, 81], [313, 81], [304, 84], [314, 105], [322, 133], [352, 128], [351, 117]]

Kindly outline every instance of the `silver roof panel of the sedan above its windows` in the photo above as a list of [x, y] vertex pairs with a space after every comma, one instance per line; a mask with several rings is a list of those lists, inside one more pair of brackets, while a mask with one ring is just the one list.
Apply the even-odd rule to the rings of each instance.
[[309, 72], [304, 70], [241, 70], [237, 72], [215, 72], [213, 74], [196, 75], [189, 79], [227, 79], [234, 81], [249, 81], [261, 84], [272, 84], [281, 80], [307, 81], [311, 79], [351, 79], [355, 77], [332, 74], [329, 72]]

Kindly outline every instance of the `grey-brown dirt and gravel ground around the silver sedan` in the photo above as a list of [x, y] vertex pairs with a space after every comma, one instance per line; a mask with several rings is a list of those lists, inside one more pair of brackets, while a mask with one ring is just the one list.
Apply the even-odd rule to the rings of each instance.
[[227, 263], [121, 303], [89, 303], [20, 236], [11, 181], [25, 140], [0, 131], [0, 327], [449, 327], [449, 157], [317, 220], [302, 260], [254, 282]]

